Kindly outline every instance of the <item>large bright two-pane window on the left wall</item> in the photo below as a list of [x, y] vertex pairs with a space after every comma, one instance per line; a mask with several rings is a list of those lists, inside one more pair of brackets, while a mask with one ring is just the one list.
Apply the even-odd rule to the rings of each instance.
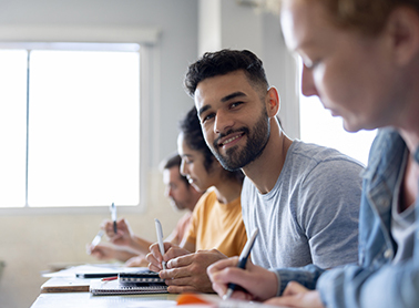
[[0, 66], [0, 207], [140, 203], [137, 44], [32, 44]]

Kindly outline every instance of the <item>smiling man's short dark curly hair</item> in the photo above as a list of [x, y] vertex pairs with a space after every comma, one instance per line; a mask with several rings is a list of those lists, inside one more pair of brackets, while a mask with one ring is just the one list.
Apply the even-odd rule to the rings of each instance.
[[184, 79], [185, 91], [194, 97], [201, 81], [238, 70], [244, 71], [251, 84], [263, 89], [269, 88], [263, 62], [256, 54], [248, 50], [223, 49], [204, 53], [200, 60], [188, 66]]

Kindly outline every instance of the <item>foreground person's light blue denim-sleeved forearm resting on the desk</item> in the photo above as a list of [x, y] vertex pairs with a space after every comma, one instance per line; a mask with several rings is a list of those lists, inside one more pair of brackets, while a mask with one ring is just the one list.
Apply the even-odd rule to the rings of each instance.
[[419, 268], [412, 259], [376, 269], [347, 266], [325, 273], [317, 289], [326, 307], [418, 307]]

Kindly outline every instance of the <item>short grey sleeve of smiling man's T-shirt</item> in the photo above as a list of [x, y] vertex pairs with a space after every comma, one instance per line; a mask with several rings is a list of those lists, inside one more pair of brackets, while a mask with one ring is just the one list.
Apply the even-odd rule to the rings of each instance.
[[300, 185], [296, 219], [313, 263], [321, 268], [358, 260], [360, 171], [352, 161], [329, 160], [317, 164]]

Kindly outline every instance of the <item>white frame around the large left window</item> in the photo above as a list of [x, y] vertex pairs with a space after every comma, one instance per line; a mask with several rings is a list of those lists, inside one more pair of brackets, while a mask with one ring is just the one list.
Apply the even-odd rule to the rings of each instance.
[[[152, 101], [157, 97], [155, 71], [159, 68], [156, 47], [160, 29], [156, 28], [73, 28], [73, 27], [17, 27], [0, 31], [0, 49], [17, 49], [24, 43], [136, 43], [140, 44], [140, 202], [135, 206], [117, 206], [122, 213], [144, 213], [149, 197], [147, 176], [150, 173], [147, 148]], [[154, 78], [154, 80], [153, 80]], [[155, 117], [155, 116], [154, 116]], [[0, 207], [0, 215], [62, 215], [62, 214], [109, 214], [110, 205], [74, 207]]]

